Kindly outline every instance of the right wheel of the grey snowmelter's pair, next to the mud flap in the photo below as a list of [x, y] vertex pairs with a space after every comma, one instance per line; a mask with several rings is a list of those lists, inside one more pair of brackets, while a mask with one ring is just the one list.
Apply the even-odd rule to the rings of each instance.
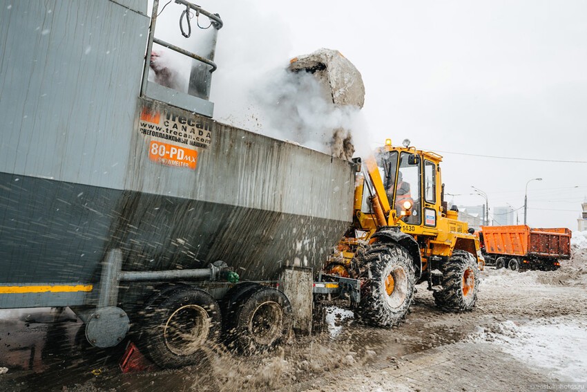
[[227, 339], [229, 348], [253, 355], [278, 346], [289, 336], [294, 322], [291, 304], [279, 290], [251, 290], [235, 308], [235, 327], [229, 330]]

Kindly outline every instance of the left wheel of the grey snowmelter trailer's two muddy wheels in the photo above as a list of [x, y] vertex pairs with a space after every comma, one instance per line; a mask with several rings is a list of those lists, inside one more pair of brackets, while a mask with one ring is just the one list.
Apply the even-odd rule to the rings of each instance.
[[203, 348], [218, 341], [220, 307], [207, 292], [189, 287], [166, 291], [146, 310], [140, 347], [163, 368], [201, 362]]

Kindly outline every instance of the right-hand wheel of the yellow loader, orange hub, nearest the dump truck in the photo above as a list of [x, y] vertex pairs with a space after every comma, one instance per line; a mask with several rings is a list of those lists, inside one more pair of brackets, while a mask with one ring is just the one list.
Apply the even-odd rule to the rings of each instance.
[[442, 290], [434, 291], [436, 306], [447, 312], [472, 310], [479, 289], [479, 268], [472, 254], [455, 250], [443, 266]]

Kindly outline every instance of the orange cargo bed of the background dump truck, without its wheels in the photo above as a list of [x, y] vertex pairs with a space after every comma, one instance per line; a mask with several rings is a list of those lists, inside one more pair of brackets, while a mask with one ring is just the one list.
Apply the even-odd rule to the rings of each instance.
[[570, 258], [570, 230], [527, 225], [482, 226], [485, 252], [523, 257]]

